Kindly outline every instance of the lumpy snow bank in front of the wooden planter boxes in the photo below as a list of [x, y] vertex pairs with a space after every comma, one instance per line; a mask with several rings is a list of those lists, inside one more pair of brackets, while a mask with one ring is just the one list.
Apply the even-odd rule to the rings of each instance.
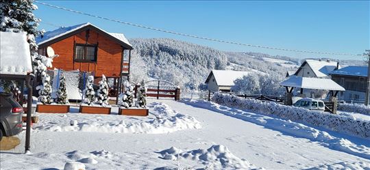
[[[201, 124], [189, 115], [171, 110], [167, 104], [149, 105], [148, 117], [91, 114], [42, 114], [35, 130], [82, 131], [110, 133], [162, 134], [178, 130], [201, 128]], [[73, 124], [71, 124], [73, 122]]]

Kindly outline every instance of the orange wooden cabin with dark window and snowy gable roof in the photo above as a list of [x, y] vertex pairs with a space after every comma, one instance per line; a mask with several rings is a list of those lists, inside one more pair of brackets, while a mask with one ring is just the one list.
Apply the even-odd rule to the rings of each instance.
[[[47, 47], [59, 55], [53, 59], [54, 68], [91, 72], [95, 79], [104, 74], [107, 79], [130, 80], [132, 45], [123, 33], [109, 33], [90, 23], [62, 27], [36, 38], [38, 53], [47, 55]], [[125, 55], [127, 53], [127, 55]]]

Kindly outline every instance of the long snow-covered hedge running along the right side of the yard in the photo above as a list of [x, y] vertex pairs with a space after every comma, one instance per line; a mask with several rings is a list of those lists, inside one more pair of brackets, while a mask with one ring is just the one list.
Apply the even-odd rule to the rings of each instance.
[[321, 111], [310, 111], [299, 107], [291, 107], [275, 102], [239, 98], [228, 94], [214, 94], [213, 102], [227, 107], [246, 109], [264, 115], [274, 115], [292, 121], [299, 121], [313, 126], [321, 126], [330, 130], [345, 132], [358, 137], [370, 137], [370, 121], [355, 119]]

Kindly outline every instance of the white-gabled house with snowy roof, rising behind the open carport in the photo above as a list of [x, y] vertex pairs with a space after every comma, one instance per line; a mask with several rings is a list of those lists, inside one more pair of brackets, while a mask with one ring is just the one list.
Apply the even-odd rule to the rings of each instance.
[[325, 78], [329, 72], [339, 68], [339, 63], [330, 60], [306, 59], [294, 73], [295, 76]]

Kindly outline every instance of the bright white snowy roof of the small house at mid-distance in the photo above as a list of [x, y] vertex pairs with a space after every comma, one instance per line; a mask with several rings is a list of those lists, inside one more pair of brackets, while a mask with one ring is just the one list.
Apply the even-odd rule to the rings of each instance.
[[234, 81], [236, 79], [242, 78], [243, 76], [247, 76], [250, 72], [241, 72], [241, 71], [233, 71], [233, 70], [212, 70], [210, 75], [208, 76], [208, 81], [210, 81], [210, 77], [213, 75], [214, 79], [219, 86], [233, 86]]

